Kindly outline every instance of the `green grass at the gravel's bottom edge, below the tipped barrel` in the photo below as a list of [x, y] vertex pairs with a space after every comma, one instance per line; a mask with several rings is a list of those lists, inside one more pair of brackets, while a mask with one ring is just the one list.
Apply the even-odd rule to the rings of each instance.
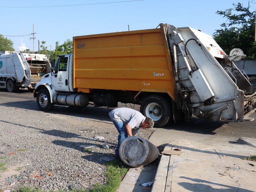
[[[72, 192], [115, 192], [120, 186], [124, 175], [128, 172], [128, 168], [124, 167], [122, 163], [112, 160], [107, 162], [106, 164], [107, 171], [104, 173], [108, 179], [106, 180], [107, 184], [102, 185], [97, 183], [94, 188], [90, 190], [78, 189], [78, 190], [69, 190]], [[20, 187], [13, 192], [43, 192], [43, 189], [37, 188], [28, 188], [28, 187]], [[50, 191], [52, 192], [52, 191]], [[59, 192], [66, 192], [66, 190], [60, 190]]]

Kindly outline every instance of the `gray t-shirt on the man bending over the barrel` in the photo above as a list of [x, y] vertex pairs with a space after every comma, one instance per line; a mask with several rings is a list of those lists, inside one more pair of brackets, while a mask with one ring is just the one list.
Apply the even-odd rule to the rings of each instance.
[[128, 124], [132, 129], [138, 129], [146, 119], [139, 111], [130, 108], [116, 108], [108, 115], [112, 121], [123, 121], [124, 125]]

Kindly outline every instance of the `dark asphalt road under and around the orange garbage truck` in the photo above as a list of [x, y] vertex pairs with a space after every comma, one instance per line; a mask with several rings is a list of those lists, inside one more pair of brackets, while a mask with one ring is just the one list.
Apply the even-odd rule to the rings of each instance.
[[[35, 111], [39, 110], [36, 104], [36, 99], [33, 97], [33, 93], [29, 92], [27, 89], [20, 89], [20, 92], [9, 93], [6, 89], [0, 88], [0, 105], [11, 106], [15, 108], [25, 108]], [[119, 107], [125, 107], [125, 104], [121, 104]], [[133, 104], [126, 104], [126, 107], [134, 107], [135, 109], [139, 110], [139, 106], [134, 106]], [[108, 116], [110, 110], [111, 108], [106, 107], [95, 108], [88, 106], [83, 112], [79, 112], [73, 108], [54, 107], [52, 111], [47, 113], [78, 116], [111, 123]], [[1, 111], [1, 113], [3, 115], [4, 111]], [[250, 117], [254, 117], [255, 120], [239, 123], [204, 122], [196, 117], [192, 117], [189, 125], [185, 123], [167, 124], [162, 129], [173, 129], [178, 131], [181, 135], [182, 132], [186, 134], [190, 132], [200, 135], [214, 135], [216, 137], [227, 137], [229, 139], [233, 138], [234, 140], [239, 139], [240, 137], [256, 138], [256, 113], [253, 113]]]

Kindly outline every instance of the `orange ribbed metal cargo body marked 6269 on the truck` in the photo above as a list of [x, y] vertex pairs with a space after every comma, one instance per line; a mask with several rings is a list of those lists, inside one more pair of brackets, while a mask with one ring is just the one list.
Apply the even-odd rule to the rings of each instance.
[[164, 28], [73, 37], [73, 87], [177, 95]]

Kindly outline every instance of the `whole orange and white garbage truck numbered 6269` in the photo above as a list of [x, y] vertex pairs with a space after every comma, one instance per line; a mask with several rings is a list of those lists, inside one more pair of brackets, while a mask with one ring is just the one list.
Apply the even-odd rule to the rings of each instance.
[[74, 54], [60, 55], [36, 84], [38, 107], [139, 104], [156, 127], [191, 114], [244, 121], [256, 88], [230, 57], [198, 30], [159, 26], [73, 37]]

